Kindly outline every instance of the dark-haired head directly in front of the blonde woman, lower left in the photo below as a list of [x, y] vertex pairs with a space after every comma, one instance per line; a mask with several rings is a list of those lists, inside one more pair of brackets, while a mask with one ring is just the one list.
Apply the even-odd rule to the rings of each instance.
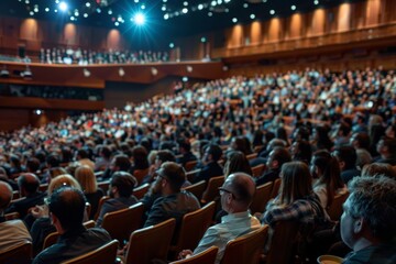
[[82, 226], [86, 199], [81, 190], [73, 187], [58, 188], [51, 195], [47, 204], [51, 220], [61, 234]]

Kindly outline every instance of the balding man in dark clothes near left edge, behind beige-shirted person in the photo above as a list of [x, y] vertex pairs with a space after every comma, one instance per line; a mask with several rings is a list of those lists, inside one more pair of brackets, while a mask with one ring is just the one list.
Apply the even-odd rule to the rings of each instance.
[[40, 179], [32, 173], [22, 174], [18, 178], [18, 186], [21, 197], [24, 197], [24, 199], [13, 202], [6, 210], [6, 213], [19, 212], [21, 219], [23, 219], [30, 208], [44, 205], [45, 194], [38, 191]]

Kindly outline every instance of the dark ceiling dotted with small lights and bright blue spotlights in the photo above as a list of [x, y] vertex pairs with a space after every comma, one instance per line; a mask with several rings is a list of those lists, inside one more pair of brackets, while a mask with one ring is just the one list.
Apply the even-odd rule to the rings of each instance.
[[[63, 1], [67, 4], [64, 12], [59, 10]], [[330, 8], [342, 2], [345, 0], [1, 0], [0, 13], [58, 23], [67, 21], [119, 28], [123, 32], [140, 28], [180, 36]], [[144, 26], [136, 26], [131, 21], [136, 12], [146, 16]]]

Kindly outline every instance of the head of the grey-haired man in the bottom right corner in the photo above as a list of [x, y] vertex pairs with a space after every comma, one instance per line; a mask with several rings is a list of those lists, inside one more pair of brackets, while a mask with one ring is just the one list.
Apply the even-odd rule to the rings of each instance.
[[342, 241], [359, 251], [396, 235], [396, 182], [386, 176], [354, 177], [341, 217]]

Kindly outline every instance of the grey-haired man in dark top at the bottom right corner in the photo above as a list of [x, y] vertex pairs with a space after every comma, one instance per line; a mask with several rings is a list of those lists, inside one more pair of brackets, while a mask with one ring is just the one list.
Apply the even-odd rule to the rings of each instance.
[[353, 250], [344, 264], [396, 262], [396, 182], [385, 176], [355, 177], [341, 217], [342, 241]]

